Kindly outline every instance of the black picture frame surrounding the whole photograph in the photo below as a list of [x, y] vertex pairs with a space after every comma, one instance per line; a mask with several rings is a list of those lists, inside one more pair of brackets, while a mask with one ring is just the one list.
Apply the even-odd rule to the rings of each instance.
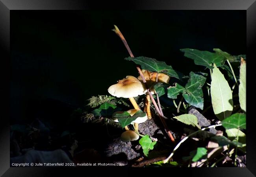
[[[10, 161], [10, 143], [9, 143], [9, 119], [8, 113], [11, 110], [9, 107], [9, 71], [10, 71], [10, 12], [12, 10], [81, 10], [81, 9], [133, 9], [133, 10], [246, 10], [247, 12], [247, 58], [249, 61], [249, 67], [247, 67], [247, 76], [252, 77], [251, 62], [255, 57], [255, 31], [256, 31], [256, 2], [255, 0], [131, 0], [128, 2], [120, 1], [83, 1], [83, 0], [0, 0], [0, 55], [2, 59], [1, 76], [5, 87], [1, 87], [2, 93], [2, 118], [0, 123], [0, 175], [7, 176], [52, 176], [52, 173], [65, 175], [87, 175], [86, 170], [90, 169], [97, 176], [98, 173], [116, 173], [114, 171], [121, 170], [122, 173], [134, 173], [141, 172], [141, 169], [137, 168], [57, 168], [57, 167], [42, 167], [42, 168], [18, 168], [9, 166]], [[239, 42], [237, 42], [239, 45]], [[248, 87], [249, 93], [252, 93], [252, 87]], [[247, 91], [248, 92], [248, 91]], [[252, 103], [252, 97], [247, 97], [248, 103]], [[252, 112], [249, 109], [249, 114]], [[4, 114], [3, 114], [4, 113]], [[6, 115], [6, 116], [4, 116]], [[250, 116], [247, 119], [247, 168], [172, 168], [172, 169], [159, 169], [159, 168], [143, 168], [143, 171], [149, 173], [156, 172], [158, 174], [184, 175], [186, 173], [189, 176], [214, 176], [214, 177], [250, 177], [256, 175], [256, 153], [254, 149], [256, 147], [256, 133], [253, 129], [254, 119]], [[79, 172], [78, 172], [79, 171]], [[121, 173], [116, 173], [120, 175]], [[101, 175], [100, 175], [101, 176]]]

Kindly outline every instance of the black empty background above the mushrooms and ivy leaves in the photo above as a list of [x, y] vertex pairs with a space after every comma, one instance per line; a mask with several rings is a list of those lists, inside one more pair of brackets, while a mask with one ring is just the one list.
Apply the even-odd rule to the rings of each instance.
[[69, 116], [127, 75], [132, 52], [202, 71], [181, 48], [246, 53], [246, 11], [11, 11], [11, 124]]

